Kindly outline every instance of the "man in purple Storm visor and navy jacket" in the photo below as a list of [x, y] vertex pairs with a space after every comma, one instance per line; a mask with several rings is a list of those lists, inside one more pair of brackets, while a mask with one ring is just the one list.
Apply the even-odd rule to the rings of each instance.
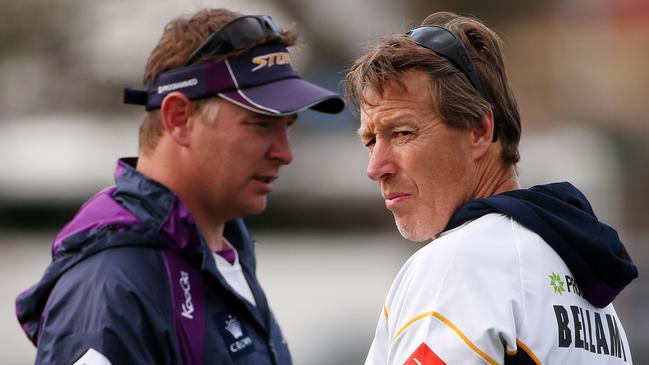
[[336, 94], [300, 78], [294, 31], [202, 10], [164, 28], [146, 65], [139, 158], [57, 235], [17, 299], [39, 364], [290, 364], [242, 217], [293, 159], [288, 129]]

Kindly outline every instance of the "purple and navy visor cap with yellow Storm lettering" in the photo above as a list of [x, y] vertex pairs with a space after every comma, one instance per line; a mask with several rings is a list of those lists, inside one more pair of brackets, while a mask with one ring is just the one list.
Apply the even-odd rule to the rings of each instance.
[[180, 91], [191, 100], [220, 96], [253, 112], [295, 114], [311, 108], [338, 113], [345, 102], [336, 93], [304, 81], [291, 65], [286, 47], [273, 44], [238, 57], [164, 72], [146, 90], [124, 89], [124, 103], [160, 108], [167, 94]]

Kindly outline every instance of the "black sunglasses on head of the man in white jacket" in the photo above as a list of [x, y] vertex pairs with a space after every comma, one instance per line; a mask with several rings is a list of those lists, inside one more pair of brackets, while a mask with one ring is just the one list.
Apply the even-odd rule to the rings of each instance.
[[469, 53], [464, 48], [464, 44], [450, 30], [435, 25], [424, 25], [412, 29], [406, 35], [418, 45], [449, 60], [466, 75], [480, 95], [487, 99]]

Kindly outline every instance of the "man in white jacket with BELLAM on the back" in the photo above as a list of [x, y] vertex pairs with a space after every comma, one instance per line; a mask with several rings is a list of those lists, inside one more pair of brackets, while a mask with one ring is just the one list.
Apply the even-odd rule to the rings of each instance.
[[500, 38], [430, 15], [347, 75], [403, 266], [366, 364], [630, 364], [611, 302], [638, 273], [569, 183], [521, 189], [521, 124]]

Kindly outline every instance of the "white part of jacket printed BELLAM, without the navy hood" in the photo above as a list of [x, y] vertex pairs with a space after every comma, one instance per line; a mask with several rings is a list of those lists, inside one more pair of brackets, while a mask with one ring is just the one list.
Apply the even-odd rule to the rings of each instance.
[[365, 362], [631, 363], [613, 305], [591, 305], [559, 255], [500, 214], [445, 232], [405, 263]]

